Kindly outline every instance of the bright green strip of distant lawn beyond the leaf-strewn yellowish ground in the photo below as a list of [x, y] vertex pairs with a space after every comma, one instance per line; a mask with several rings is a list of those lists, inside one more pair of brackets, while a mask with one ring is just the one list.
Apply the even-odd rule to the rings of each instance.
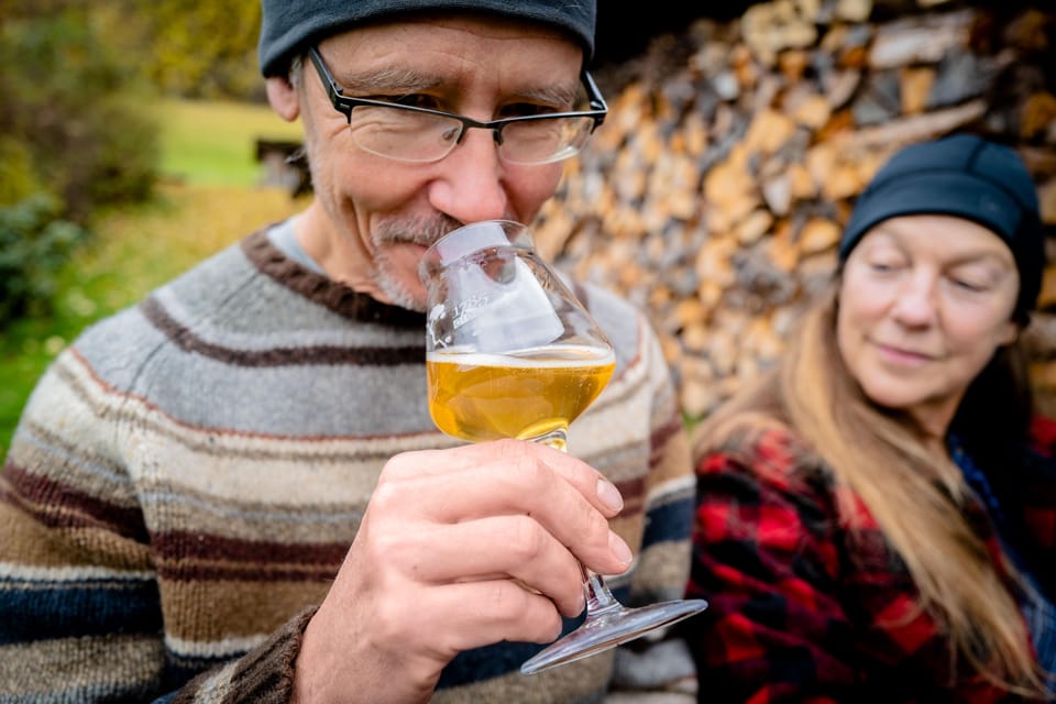
[[197, 185], [253, 186], [256, 139], [301, 138], [299, 120], [286, 122], [264, 105], [162, 100], [157, 116], [162, 173]]

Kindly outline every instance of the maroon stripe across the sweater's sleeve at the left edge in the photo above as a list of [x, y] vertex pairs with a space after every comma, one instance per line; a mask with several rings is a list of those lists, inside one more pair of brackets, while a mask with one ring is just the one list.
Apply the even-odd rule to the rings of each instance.
[[31, 474], [11, 460], [0, 476], [0, 499], [52, 528], [102, 528], [140, 542], [147, 539], [139, 508], [116, 506], [61, 482]]

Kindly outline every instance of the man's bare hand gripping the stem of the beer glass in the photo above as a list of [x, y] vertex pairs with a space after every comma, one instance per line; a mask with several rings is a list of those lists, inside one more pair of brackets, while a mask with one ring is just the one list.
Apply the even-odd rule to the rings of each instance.
[[460, 651], [556, 639], [584, 607], [579, 561], [630, 564], [608, 528], [622, 506], [594, 469], [542, 444], [393, 458], [305, 631], [298, 701], [427, 701]]

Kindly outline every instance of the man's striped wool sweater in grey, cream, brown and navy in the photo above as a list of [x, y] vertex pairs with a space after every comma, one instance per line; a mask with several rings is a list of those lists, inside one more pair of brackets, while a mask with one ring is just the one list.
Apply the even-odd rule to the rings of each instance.
[[[630, 602], [682, 594], [693, 480], [657, 339], [587, 305], [616, 374], [571, 428], [636, 551]], [[451, 447], [426, 407], [424, 317], [302, 267], [266, 231], [66, 350], [0, 474], [0, 700], [283, 702], [312, 607], [385, 461]], [[539, 646], [460, 654], [436, 702], [596, 701], [612, 653], [531, 676]], [[355, 683], [350, 682], [350, 691]]]

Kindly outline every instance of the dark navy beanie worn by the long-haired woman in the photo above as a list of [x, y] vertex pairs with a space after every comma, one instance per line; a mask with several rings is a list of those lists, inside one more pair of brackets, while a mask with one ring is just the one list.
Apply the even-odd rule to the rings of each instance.
[[1045, 268], [1037, 190], [1007, 146], [958, 134], [912, 144], [894, 154], [858, 197], [839, 241], [839, 261], [888, 218], [946, 215], [972, 220], [1000, 237], [1020, 272], [1016, 315], [1033, 310]]

